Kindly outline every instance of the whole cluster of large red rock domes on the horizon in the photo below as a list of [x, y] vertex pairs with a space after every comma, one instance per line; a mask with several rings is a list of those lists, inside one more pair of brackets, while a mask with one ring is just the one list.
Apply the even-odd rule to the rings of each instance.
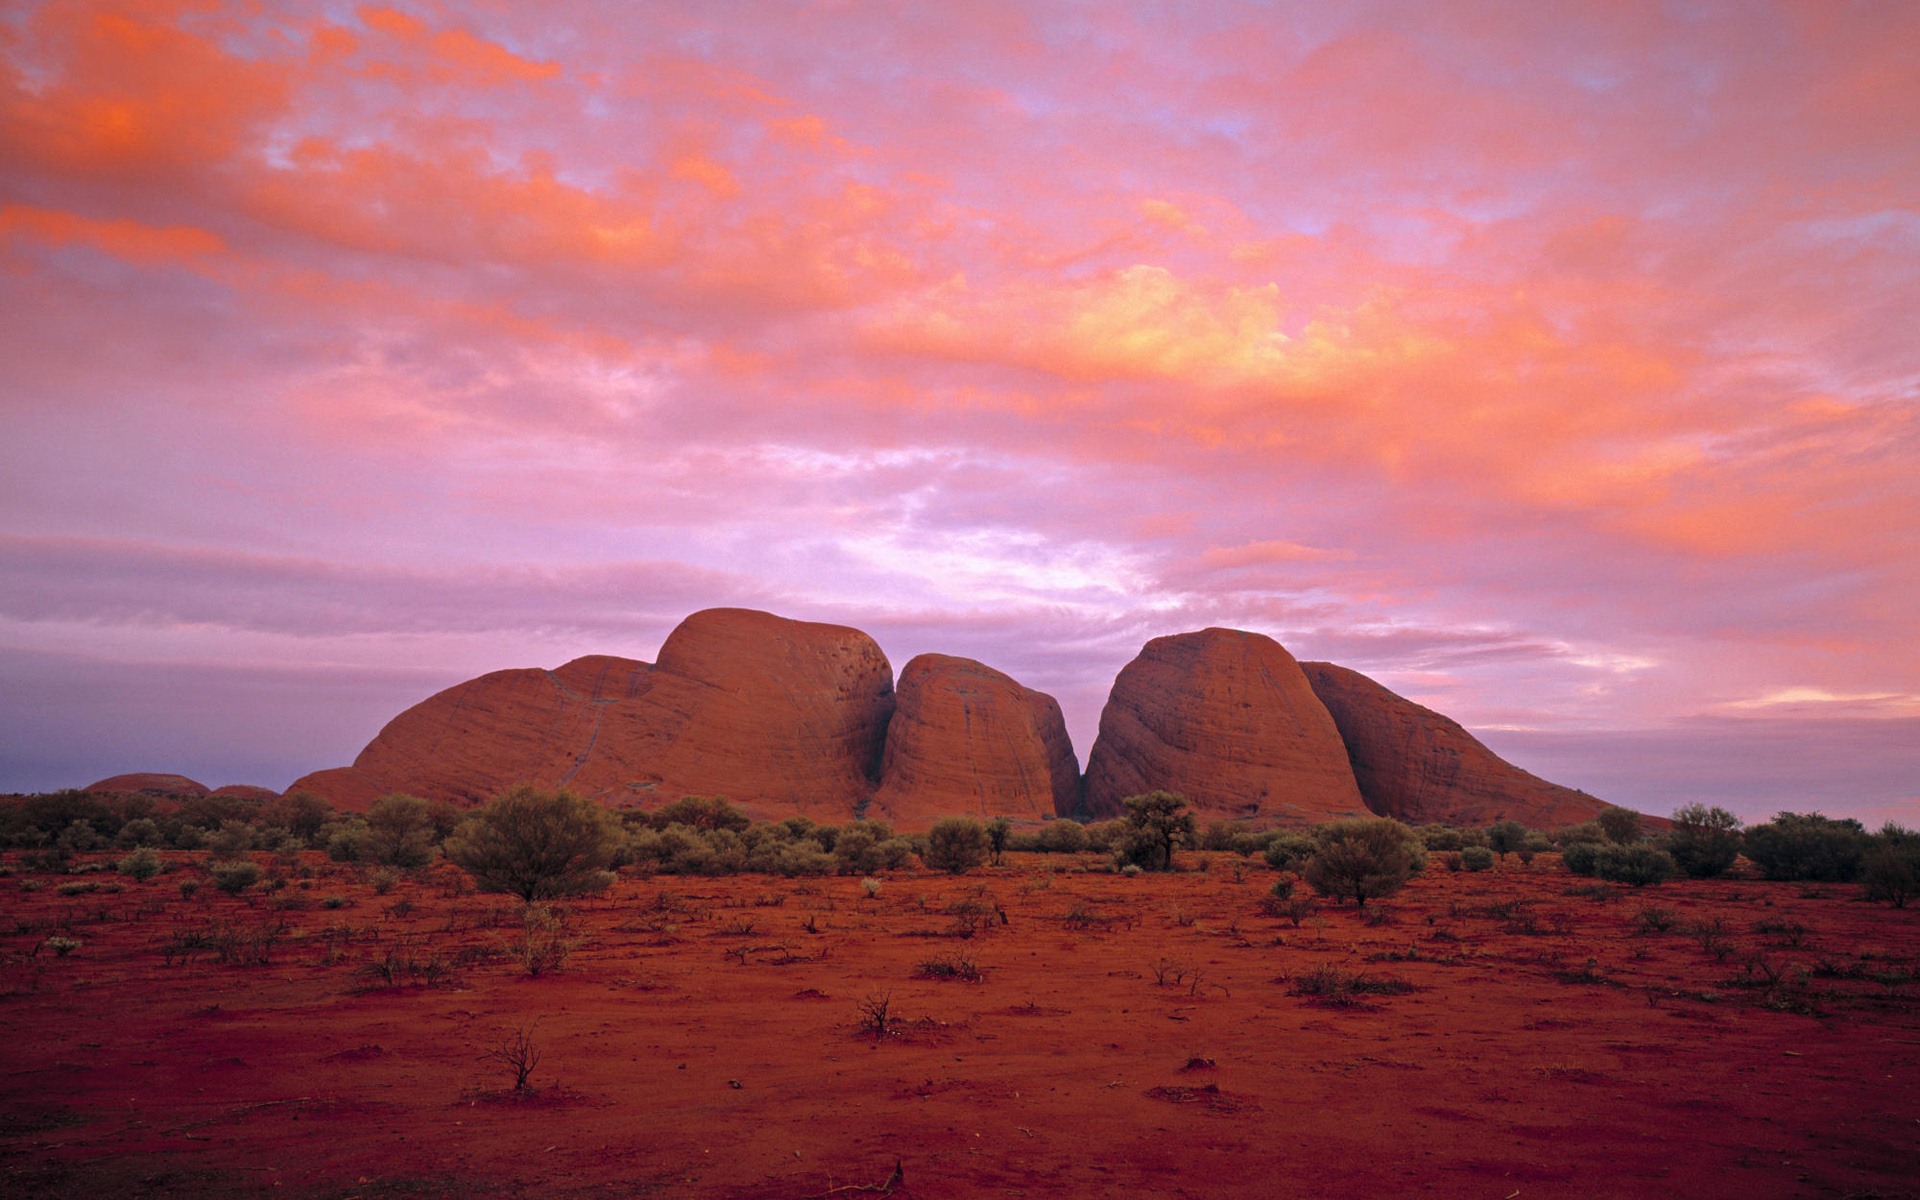
[[858, 630], [745, 609], [680, 624], [659, 662], [499, 670], [396, 716], [313, 791], [480, 803], [515, 783], [616, 806], [726, 795], [762, 818], [1102, 818], [1183, 793], [1202, 820], [1304, 826], [1379, 812], [1528, 826], [1605, 804], [1496, 756], [1455, 722], [1240, 630], [1148, 641], [1114, 682], [1081, 778], [1060, 705], [991, 666], [920, 655], [899, 685]]

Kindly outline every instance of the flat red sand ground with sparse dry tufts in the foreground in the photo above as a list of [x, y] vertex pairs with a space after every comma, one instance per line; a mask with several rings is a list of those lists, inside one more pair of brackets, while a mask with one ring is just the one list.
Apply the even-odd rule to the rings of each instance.
[[[580, 945], [538, 977], [516, 906], [451, 868], [376, 895], [307, 854], [276, 895], [182, 899], [198, 866], [15, 864], [0, 1190], [799, 1200], [895, 1164], [920, 1198], [1920, 1190], [1920, 910], [1542, 856], [1296, 927], [1261, 912], [1273, 872], [1185, 860], [1210, 870], [622, 879], [564, 906]], [[58, 895], [83, 881], [123, 891]], [[1638, 931], [1647, 906], [1678, 924]], [[1715, 918], [1720, 952], [1686, 931]], [[282, 925], [267, 964], [188, 948]], [[954, 954], [985, 979], [920, 975]], [[449, 973], [384, 987], [390, 956]], [[1317, 966], [1417, 991], [1290, 995]], [[860, 1027], [877, 995], [887, 1037]], [[484, 1054], [534, 1018], [516, 1098]]]

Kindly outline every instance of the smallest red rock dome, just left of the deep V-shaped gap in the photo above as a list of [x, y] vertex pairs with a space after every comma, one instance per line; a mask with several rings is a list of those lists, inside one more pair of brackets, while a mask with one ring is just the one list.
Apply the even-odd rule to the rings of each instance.
[[870, 816], [925, 829], [943, 816], [1068, 816], [1077, 803], [1054, 697], [972, 659], [920, 655], [900, 670]]

